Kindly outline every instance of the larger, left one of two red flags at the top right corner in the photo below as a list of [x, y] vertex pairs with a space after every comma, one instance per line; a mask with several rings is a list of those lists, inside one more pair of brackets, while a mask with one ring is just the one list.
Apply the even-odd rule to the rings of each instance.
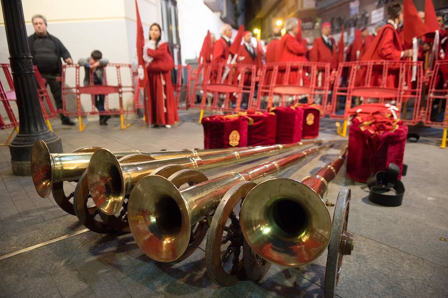
[[405, 48], [412, 46], [414, 37], [420, 38], [428, 32], [422, 19], [419, 17], [417, 8], [412, 0], [403, 1], [403, 43]]

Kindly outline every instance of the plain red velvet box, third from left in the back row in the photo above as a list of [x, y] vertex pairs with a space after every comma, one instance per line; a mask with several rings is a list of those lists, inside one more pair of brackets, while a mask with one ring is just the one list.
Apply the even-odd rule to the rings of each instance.
[[302, 139], [303, 109], [295, 107], [275, 107], [277, 115], [277, 143], [288, 144]]

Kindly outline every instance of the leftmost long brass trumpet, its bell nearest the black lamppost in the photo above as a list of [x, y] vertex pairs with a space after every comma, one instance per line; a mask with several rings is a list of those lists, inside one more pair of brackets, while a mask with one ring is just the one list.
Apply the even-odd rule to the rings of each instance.
[[[254, 148], [254, 147], [247, 147]], [[78, 180], [89, 165], [92, 155], [102, 148], [84, 147], [76, 150], [76, 153], [50, 153], [47, 144], [39, 140], [31, 151], [31, 173], [34, 187], [40, 197], [46, 198], [50, 195], [52, 185], [61, 181]], [[181, 156], [208, 156], [231, 152], [234, 148], [196, 150], [187, 149], [180, 151], [154, 151], [144, 152], [138, 150], [113, 152], [117, 158], [125, 155], [144, 155], [145, 160], [157, 160], [175, 158]], [[137, 156], [135, 156], [137, 157]], [[135, 159], [135, 158], [134, 158]]]

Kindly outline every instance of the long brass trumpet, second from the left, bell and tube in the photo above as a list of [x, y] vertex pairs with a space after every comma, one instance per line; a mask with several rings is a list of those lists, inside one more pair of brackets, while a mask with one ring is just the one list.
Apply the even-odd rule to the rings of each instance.
[[[112, 152], [102, 149], [95, 152], [92, 156], [87, 170], [87, 181], [90, 194], [97, 207], [105, 214], [113, 215], [120, 210], [125, 196], [131, 193], [133, 186], [141, 178], [151, 174], [159, 167], [174, 164], [204, 171], [270, 156], [297, 146], [316, 142], [321, 142], [321, 140], [284, 145], [257, 146], [247, 149], [238, 148], [238, 150], [233, 149], [233, 152], [230, 153], [210, 155], [204, 158], [199, 156], [183, 156], [164, 160], [123, 164], [118, 162], [118, 159]], [[176, 169], [176, 171], [178, 170]]]

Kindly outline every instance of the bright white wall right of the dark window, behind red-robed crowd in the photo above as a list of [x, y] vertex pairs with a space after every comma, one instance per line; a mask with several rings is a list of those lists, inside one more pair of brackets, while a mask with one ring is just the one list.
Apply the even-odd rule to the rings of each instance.
[[224, 22], [220, 14], [210, 10], [203, 0], [177, 1], [182, 62], [199, 56], [207, 30], [220, 37]]

